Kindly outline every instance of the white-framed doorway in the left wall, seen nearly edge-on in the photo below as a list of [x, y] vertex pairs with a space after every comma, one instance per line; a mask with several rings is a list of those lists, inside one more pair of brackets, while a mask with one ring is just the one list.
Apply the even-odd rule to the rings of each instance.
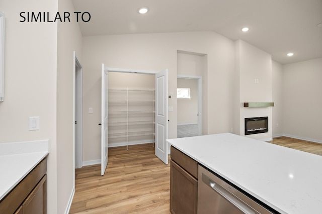
[[73, 53], [73, 121], [77, 121], [77, 126], [73, 126], [73, 168], [81, 168], [83, 166], [83, 68], [75, 51]]

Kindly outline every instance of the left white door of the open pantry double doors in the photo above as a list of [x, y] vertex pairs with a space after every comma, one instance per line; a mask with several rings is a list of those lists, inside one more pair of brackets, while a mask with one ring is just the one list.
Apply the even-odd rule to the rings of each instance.
[[108, 71], [102, 64], [102, 110], [101, 110], [101, 175], [104, 175], [108, 161]]

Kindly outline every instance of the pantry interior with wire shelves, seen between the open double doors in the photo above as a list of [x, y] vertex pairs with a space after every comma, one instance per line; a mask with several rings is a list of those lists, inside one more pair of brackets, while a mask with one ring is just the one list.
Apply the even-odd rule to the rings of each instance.
[[155, 75], [109, 72], [109, 147], [154, 143]]

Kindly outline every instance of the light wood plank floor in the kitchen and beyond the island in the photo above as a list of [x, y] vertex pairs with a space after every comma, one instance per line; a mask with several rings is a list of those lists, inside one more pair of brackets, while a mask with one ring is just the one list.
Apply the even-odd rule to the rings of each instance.
[[[320, 143], [289, 137], [270, 143], [322, 155]], [[170, 213], [170, 164], [154, 155], [151, 144], [109, 148], [104, 176], [100, 170], [101, 165], [76, 169], [69, 213]]]

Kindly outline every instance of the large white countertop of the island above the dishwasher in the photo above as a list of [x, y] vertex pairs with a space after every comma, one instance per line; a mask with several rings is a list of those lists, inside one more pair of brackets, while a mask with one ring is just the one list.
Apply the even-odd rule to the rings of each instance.
[[230, 133], [168, 143], [281, 213], [322, 213], [322, 156]]

